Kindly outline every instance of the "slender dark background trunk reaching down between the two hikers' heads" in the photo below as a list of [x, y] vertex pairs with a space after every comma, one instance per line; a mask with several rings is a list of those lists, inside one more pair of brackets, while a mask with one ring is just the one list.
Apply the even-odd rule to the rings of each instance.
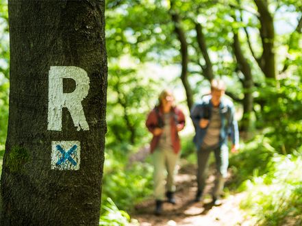
[[179, 15], [177, 12], [174, 11], [172, 8], [173, 2], [171, 1], [171, 17], [172, 21], [175, 25], [175, 33], [177, 34], [177, 38], [180, 42], [180, 53], [181, 53], [181, 81], [182, 84], [184, 85], [184, 88], [186, 90], [186, 97], [187, 97], [187, 103], [188, 103], [188, 108], [189, 110], [192, 108], [193, 105], [193, 95], [192, 95], [192, 88], [189, 84], [188, 81], [188, 43], [186, 41], [186, 35], [184, 33], [184, 30], [181, 29], [181, 22]]

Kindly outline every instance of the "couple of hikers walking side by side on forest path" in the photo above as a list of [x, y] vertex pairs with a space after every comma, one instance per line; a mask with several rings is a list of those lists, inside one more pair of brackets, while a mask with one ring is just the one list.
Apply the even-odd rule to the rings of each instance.
[[[197, 147], [197, 193], [195, 201], [201, 201], [205, 179], [207, 177], [207, 162], [210, 153], [214, 151], [216, 160], [216, 180], [212, 191], [214, 205], [221, 204], [221, 194], [227, 167], [229, 164], [229, 149], [227, 138], [231, 138], [231, 151], [239, 148], [238, 125], [234, 118], [234, 104], [224, 97], [225, 84], [220, 79], [211, 82], [211, 93], [201, 99], [191, 110], [191, 118], [195, 128], [194, 144]], [[154, 197], [156, 201], [155, 214], [162, 213], [162, 203], [167, 198], [175, 204], [175, 174], [177, 160], [180, 155], [180, 140], [178, 132], [184, 129], [185, 116], [174, 104], [171, 91], [164, 90], [160, 94], [159, 104], [149, 113], [147, 128], [153, 134], [151, 153], [154, 165]], [[165, 173], [167, 177], [165, 179]]]

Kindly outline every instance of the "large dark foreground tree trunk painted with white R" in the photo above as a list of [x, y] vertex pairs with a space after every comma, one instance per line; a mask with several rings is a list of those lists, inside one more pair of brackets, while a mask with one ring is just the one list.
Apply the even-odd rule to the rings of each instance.
[[0, 225], [99, 225], [104, 1], [8, 1], [10, 114]]

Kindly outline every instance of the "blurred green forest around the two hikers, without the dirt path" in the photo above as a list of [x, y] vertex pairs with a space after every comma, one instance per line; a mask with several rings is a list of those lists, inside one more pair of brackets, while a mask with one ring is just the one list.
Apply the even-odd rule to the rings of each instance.
[[[246, 192], [251, 225], [302, 225], [302, 1], [108, 0], [108, 105], [100, 223], [128, 225], [152, 197], [151, 134], [144, 126], [163, 88], [186, 113], [180, 167], [195, 166], [190, 108], [227, 83], [241, 150], [225, 192]], [[0, 0], [0, 158], [9, 95], [8, 8]]]

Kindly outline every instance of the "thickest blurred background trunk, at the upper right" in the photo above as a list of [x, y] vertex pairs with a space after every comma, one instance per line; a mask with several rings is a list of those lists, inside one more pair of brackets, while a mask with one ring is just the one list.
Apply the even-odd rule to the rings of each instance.
[[276, 65], [275, 65], [275, 29], [273, 23], [273, 16], [268, 11], [267, 0], [254, 0], [257, 5], [257, 10], [260, 14], [260, 36], [262, 40], [263, 52], [260, 58], [260, 68], [265, 77], [276, 79]]

